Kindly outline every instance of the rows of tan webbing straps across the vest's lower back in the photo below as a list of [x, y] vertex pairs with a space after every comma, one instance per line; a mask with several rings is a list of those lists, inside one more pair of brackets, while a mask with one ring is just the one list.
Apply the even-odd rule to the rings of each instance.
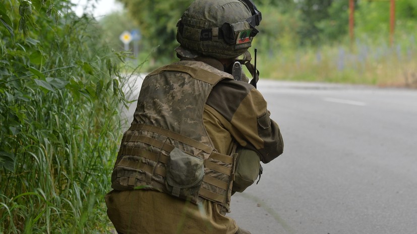
[[[200, 150], [203, 150], [207, 153], [210, 153], [210, 156], [207, 159], [204, 159], [204, 165], [206, 169], [213, 171], [217, 174], [218, 173], [223, 174], [224, 176], [227, 176], [229, 178], [230, 178], [230, 175], [232, 174], [232, 167], [224, 167], [215, 162], [220, 162], [221, 164], [227, 164], [231, 166], [234, 160], [233, 157], [231, 157], [230, 155], [221, 154], [216, 151], [213, 151], [213, 148], [205, 144], [202, 144], [196, 140], [193, 140], [187, 136], [169, 131], [161, 127], [152, 126], [148, 124], [132, 124], [129, 130], [135, 130], [135, 131], [145, 130], [145, 131], [154, 132], [154, 133], [166, 136], [170, 139], [173, 139], [173, 140], [188, 144], [192, 147], [198, 148]], [[160, 140], [157, 140], [148, 136], [144, 136], [144, 135], [125, 135], [122, 141], [123, 142], [142, 142], [142, 143], [146, 143], [148, 145], [154, 146], [156, 148], [159, 148], [167, 152], [170, 152], [171, 150], [175, 148], [173, 145], [170, 145], [166, 142], [162, 142]], [[124, 146], [121, 147], [119, 153], [120, 155], [135, 155], [135, 156], [139, 156], [142, 158], [146, 158], [148, 160], [154, 161], [156, 165], [150, 166], [142, 162], [122, 159], [120, 162], [118, 162], [117, 166], [123, 166], [123, 167], [128, 167], [131, 169], [141, 170], [143, 172], [146, 172], [147, 175], [157, 174], [162, 177], [165, 177], [165, 167], [162, 166], [160, 163], [162, 163], [163, 165], [166, 165], [166, 163], [168, 162], [167, 155], [156, 153], [156, 152], [151, 152], [142, 148], [132, 148], [132, 147], [124, 147]], [[135, 178], [136, 177], [129, 179], [129, 185], [134, 186]], [[213, 201], [224, 204], [227, 202], [227, 196], [225, 196], [225, 194], [218, 194], [213, 191], [210, 191], [210, 189], [207, 187], [207, 184], [209, 186], [215, 186], [217, 188], [220, 188], [224, 190], [225, 193], [227, 193], [230, 187], [230, 179], [227, 181], [228, 182], [219, 180], [213, 177], [212, 175], [210, 175], [210, 173], [208, 173], [204, 176], [204, 179], [203, 179], [203, 182], [206, 184], [206, 186], [204, 186], [204, 183], [203, 183], [203, 186], [200, 188], [199, 195], [209, 200], [213, 200]]]

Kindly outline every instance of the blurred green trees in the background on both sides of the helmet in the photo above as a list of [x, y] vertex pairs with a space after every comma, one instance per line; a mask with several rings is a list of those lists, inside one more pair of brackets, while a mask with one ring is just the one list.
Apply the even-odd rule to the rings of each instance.
[[[173, 59], [176, 22], [192, 0], [118, 0], [143, 35], [145, 50], [154, 57]], [[264, 51], [298, 47], [320, 47], [348, 40], [348, 0], [258, 0], [263, 14], [261, 34], [255, 39]], [[355, 37], [370, 40], [389, 37], [389, 0], [355, 0]], [[396, 35], [398, 39], [415, 35], [417, 1], [397, 0]], [[258, 41], [259, 40], [259, 41]], [[257, 42], [258, 41], [258, 42]], [[155, 49], [156, 48], [156, 49]]]

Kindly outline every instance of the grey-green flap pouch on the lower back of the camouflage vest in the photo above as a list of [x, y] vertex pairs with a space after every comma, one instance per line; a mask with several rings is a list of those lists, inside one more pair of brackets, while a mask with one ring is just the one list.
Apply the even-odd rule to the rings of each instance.
[[166, 165], [166, 189], [171, 195], [197, 203], [204, 177], [204, 160], [174, 148]]

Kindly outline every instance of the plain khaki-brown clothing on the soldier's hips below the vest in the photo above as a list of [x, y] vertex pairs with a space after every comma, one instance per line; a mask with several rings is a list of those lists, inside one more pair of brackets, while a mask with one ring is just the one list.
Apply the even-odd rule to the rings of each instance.
[[208, 200], [196, 205], [152, 190], [113, 190], [105, 200], [107, 215], [122, 234], [251, 234]]

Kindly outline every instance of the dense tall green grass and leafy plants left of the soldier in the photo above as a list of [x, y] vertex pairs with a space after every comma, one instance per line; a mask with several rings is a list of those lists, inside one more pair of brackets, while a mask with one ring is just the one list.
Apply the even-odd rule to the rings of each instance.
[[104, 233], [127, 77], [67, 1], [0, 3], [0, 233]]

